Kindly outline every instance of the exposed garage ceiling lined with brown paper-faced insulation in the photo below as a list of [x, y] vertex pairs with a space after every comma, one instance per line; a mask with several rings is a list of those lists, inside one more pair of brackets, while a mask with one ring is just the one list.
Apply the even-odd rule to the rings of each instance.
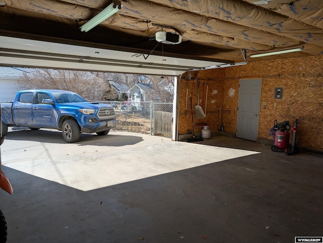
[[[219, 61], [254, 60], [323, 54], [321, 0], [122, 0], [121, 10], [87, 33], [79, 27], [111, 0], [1, 0], [0, 35], [77, 40], [133, 48], [148, 54], [188, 55]], [[115, 1], [116, 2], [116, 1]], [[157, 45], [154, 33], [182, 35], [177, 45]], [[147, 29], [149, 31], [147, 32]], [[150, 34], [149, 34], [150, 32]], [[147, 34], [148, 33], [148, 34]], [[298, 53], [249, 58], [251, 54], [304, 46]]]

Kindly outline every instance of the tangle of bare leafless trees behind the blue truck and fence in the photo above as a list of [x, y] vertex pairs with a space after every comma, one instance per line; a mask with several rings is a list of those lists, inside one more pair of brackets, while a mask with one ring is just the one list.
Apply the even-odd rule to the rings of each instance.
[[[174, 77], [152, 75], [30, 69], [18, 81], [21, 89], [61, 89], [76, 92], [88, 100], [117, 100], [111, 84], [149, 84], [154, 90], [147, 100], [172, 101]], [[173, 91], [173, 92], [172, 92]]]

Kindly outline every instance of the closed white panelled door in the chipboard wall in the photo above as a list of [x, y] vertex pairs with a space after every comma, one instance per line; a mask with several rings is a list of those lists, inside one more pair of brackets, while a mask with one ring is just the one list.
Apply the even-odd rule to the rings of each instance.
[[237, 138], [256, 141], [258, 136], [261, 79], [241, 79], [239, 85]]

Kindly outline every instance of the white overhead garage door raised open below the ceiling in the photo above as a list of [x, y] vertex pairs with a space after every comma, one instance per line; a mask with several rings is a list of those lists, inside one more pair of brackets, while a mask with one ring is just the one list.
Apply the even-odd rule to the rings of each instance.
[[[0, 65], [179, 76], [225, 63], [0, 36]], [[138, 50], [139, 51], [139, 50]], [[144, 51], [145, 52], [145, 51]]]

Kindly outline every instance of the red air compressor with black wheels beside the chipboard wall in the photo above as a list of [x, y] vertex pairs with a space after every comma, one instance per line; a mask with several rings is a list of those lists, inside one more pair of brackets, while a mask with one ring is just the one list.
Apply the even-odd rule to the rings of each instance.
[[269, 135], [274, 138], [272, 151], [277, 152], [278, 149], [284, 149], [285, 153], [288, 153], [290, 129], [289, 121], [286, 120], [282, 123], [277, 123], [277, 120], [274, 121], [274, 127], [269, 131]]

